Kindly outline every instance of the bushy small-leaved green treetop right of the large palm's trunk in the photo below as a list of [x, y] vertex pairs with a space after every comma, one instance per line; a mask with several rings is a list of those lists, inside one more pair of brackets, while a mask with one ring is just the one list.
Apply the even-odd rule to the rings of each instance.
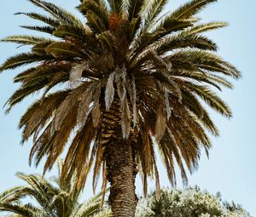
[[183, 191], [162, 189], [160, 200], [155, 192], [141, 198], [137, 217], [252, 217], [236, 203], [224, 202], [217, 193], [213, 196], [200, 188]]

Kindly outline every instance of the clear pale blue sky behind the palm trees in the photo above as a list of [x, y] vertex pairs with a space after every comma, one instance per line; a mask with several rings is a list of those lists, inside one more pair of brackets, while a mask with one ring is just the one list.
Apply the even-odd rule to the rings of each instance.
[[[74, 7], [79, 0], [52, 0], [75, 12]], [[172, 0], [168, 9], [175, 9], [184, 0]], [[61, 4], [62, 3], [62, 4]], [[15, 16], [15, 12], [33, 11], [34, 7], [26, 0], [9, 0], [0, 3], [0, 37], [12, 34], [26, 34], [19, 26], [31, 23], [23, 16]], [[253, 216], [256, 216], [256, 30], [255, 0], [219, 0], [200, 14], [203, 20], [224, 20], [230, 26], [214, 31], [210, 37], [218, 43], [218, 53], [230, 61], [242, 72], [242, 78], [234, 81], [233, 91], [224, 90], [222, 94], [232, 108], [234, 117], [230, 120], [219, 117], [212, 112], [212, 117], [220, 130], [220, 137], [212, 138], [210, 159], [201, 155], [199, 169], [189, 177], [189, 185], [201, 186], [212, 193], [220, 191], [223, 198], [241, 203]], [[31, 32], [32, 33], [32, 32]], [[22, 49], [15, 45], [0, 43], [0, 62], [9, 55]], [[18, 71], [6, 71], [0, 75], [0, 107], [12, 94], [17, 85], [12, 77]], [[36, 170], [28, 167], [28, 154], [31, 143], [20, 146], [20, 131], [17, 129], [19, 117], [32, 98], [17, 106], [8, 116], [0, 111], [0, 191], [11, 186], [20, 185], [15, 178], [17, 171], [40, 173], [42, 165]], [[254, 129], [253, 129], [254, 128]], [[160, 166], [161, 185], [169, 186], [165, 170]], [[85, 188], [90, 195], [89, 186]], [[182, 186], [179, 181], [178, 186]], [[151, 186], [154, 189], [154, 186]], [[137, 191], [141, 193], [141, 183], [137, 182]], [[85, 197], [85, 196], [84, 196]]]

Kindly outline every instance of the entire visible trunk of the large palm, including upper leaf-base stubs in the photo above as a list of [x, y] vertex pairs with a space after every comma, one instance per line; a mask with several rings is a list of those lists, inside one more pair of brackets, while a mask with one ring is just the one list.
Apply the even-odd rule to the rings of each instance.
[[104, 114], [102, 124], [107, 179], [111, 185], [109, 201], [113, 217], [133, 217], [137, 207], [134, 132], [131, 130], [129, 139], [123, 140], [120, 119], [119, 103], [115, 100], [110, 111]]

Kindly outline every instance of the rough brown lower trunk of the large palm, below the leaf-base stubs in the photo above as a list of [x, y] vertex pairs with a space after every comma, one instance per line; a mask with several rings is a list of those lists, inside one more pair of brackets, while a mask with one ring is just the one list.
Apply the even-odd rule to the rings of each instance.
[[114, 217], [133, 217], [137, 207], [135, 177], [137, 168], [131, 140], [109, 142], [106, 164], [111, 184], [109, 200]]

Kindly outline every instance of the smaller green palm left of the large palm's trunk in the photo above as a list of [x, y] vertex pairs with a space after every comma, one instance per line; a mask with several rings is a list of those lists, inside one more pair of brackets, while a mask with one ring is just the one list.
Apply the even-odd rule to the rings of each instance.
[[[61, 163], [59, 164], [59, 171]], [[26, 181], [26, 186], [17, 186], [0, 194], [0, 213], [5, 217], [110, 217], [110, 209], [102, 208], [98, 194], [85, 203], [79, 203], [81, 191], [73, 188], [73, 182], [60, 182], [60, 175], [53, 181], [37, 174], [17, 176]], [[31, 197], [32, 203], [24, 203]], [[35, 202], [35, 203], [34, 203]], [[35, 205], [36, 204], [36, 205]]]

